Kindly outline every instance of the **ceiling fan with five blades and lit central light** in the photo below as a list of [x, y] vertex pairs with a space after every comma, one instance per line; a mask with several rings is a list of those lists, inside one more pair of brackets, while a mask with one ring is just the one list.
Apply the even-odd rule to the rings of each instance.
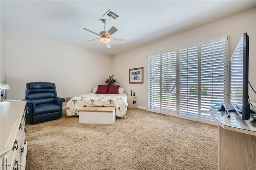
[[[111, 45], [110, 45], [110, 41], [116, 41], [118, 43], [126, 43], [126, 40], [124, 39], [119, 39], [119, 38], [114, 38], [114, 37], [110, 37], [112, 34], [114, 34], [118, 29], [116, 29], [115, 27], [111, 27], [107, 32], [106, 32], [106, 22], [107, 20], [106, 19], [102, 19], [103, 23], [104, 23], [104, 31], [101, 31], [100, 34], [94, 32], [94, 31], [91, 31], [90, 29], [87, 29], [87, 28], [83, 28], [84, 30], [86, 31], [89, 31], [91, 33], [94, 33], [98, 36], [100, 36], [100, 38], [96, 38], [98, 40], [100, 40], [100, 42], [106, 44], [106, 47], [107, 48], [110, 48]], [[92, 40], [89, 40], [89, 41], [94, 41], [96, 39], [92, 39]], [[88, 41], [85, 41], [85, 42], [88, 42]]]

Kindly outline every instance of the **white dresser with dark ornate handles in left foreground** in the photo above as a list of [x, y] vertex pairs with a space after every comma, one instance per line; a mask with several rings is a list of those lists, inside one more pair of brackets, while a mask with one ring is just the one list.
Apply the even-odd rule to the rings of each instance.
[[25, 170], [26, 102], [0, 102], [0, 170]]

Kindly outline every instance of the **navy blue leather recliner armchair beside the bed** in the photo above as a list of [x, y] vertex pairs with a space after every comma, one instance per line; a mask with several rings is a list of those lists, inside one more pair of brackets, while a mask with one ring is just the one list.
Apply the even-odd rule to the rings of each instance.
[[27, 83], [23, 100], [27, 102], [29, 124], [60, 119], [62, 103], [66, 101], [57, 96], [56, 86], [50, 82]]

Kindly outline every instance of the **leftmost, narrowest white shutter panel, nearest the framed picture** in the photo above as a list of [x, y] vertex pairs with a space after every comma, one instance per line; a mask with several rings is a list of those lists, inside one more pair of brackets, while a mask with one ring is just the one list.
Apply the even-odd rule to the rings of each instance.
[[148, 109], [160, 111], [160, 54], [148, 55]]

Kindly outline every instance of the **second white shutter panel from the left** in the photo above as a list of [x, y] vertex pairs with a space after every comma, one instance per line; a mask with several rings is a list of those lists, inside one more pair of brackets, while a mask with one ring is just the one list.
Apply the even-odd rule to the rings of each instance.
[[162, 109], [176, 111], [176, 49], [161, 55]]

